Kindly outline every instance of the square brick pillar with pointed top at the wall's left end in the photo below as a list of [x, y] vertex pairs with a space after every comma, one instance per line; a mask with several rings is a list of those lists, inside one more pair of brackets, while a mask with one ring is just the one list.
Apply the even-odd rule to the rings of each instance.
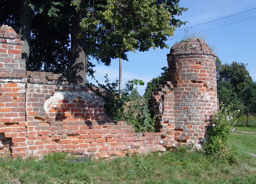
[[[22, 41], [9, 26], [0, 26], [0, 154], [26, 156], [25, 60]], [[9, 149], [8, 149], [9, 148]]]

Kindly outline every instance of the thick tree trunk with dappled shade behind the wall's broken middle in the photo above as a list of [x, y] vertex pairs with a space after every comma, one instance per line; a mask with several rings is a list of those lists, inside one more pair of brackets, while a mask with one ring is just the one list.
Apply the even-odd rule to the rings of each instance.
[[[84, 11], [76, 11], [72, 18], [71, 27], [71, 66], [69, 81], [85, 83], [87, 68], [87, 34], [81, 31], [80, 21], [84, 17]], [[79, 35], [79, 38], [77, 36]]]

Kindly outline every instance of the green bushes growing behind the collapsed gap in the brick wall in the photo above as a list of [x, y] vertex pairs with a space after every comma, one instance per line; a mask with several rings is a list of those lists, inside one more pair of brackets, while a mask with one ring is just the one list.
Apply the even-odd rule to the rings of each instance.
[[[126, 82], [125, 88], [122, 90], [122, 98], [120, 98], [117, 88], [118, 80], [110, 83], [107, 75], [105, 78], [105, 85], [96, 81], [103, 91], [98, 89], [94, 91], [106, 101], [104, 110], [108, 113], [108, 117], [111, 117], [112, 120], [127, 121], [128, 124], [133, 126], [135, 132], [154, 131], [155, 119], [150, 117], [147, 101], [134, 89], [134, 85], [144, 85], [144, 82], [138, 79]], [[95, 85], [89, 84], [89, 86]], [[132, 103], [128, 107], [129, 110], [124, 111], [127, 101], [132, 101]]]

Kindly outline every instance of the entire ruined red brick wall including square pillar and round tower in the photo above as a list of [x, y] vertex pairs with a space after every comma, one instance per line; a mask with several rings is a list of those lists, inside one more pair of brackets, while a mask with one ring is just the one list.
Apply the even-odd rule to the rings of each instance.
[[170, 81], [151, 98], [155, 133], [134, 133], [132, 125], [111, 121], [101, 97], [62, 74], [26, 71], [21, 45], [11, 27], [0, 27], [0, 154], [38, 158], [66, 151], [109, 158], [199, 144], [216, 107], [215, 55], [176, 51], [208, 49], [203, 40], [176, 44], [168, 55]]

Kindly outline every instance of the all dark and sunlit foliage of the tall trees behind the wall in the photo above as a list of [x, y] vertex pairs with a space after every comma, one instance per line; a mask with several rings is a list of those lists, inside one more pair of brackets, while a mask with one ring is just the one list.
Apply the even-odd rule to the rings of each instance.
[[[0, 23], [8, 24], [16, 31], [20, 1], [4, 0], [1, 4], [3, 15]], [[27, 2], [33, 10], [28, 69], [66, 74], [74, 64], [72, 58], [77, 61], [81, 55], [81, 52], [77, 52], [79, 47], [72, 50], [70, 38], [76, 45], [80, 44], [85, 58], [95, 58], [109, 65], [113, 58], [128, 60], [128, 51], [167, 48], [167, 38], [172, 36], [177, 27], [185, 24], [176, 17], [187, 10], [179, 7], [179, 0]], [[75, 17], [81, 20], [78, 22], [80, 31], [76, 30], [72, 37], [72, 29], [76, 27], [73, 21]], [[78, 43], [75, 39], [84, 39], [86, 43]], [[74, 53], [75, 56], [71, 57]], [[88, 62], [86, 66], [93, 65]], [[86, 67], [77, 67], [75, 72], [79, 73], [79, 70], [86, 70]], [[89, 72], [93, 74], [92, 70]]]

